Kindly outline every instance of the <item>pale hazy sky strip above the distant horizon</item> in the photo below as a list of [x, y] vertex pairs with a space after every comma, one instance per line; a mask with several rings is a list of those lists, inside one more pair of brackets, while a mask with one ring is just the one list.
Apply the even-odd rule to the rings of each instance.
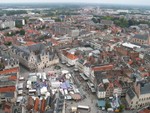
[[0, 3], [109, 3], [109, 4], [130, 4], [130, 5], [149, 5], [150, 0], [0, 0]]

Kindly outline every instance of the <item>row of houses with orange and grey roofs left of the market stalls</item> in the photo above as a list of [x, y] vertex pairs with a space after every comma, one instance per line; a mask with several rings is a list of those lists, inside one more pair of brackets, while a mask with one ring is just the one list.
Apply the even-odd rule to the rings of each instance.
[[15, 58], [0, 58], [0, 103], [16, 98], [16, 83], [19, 78], [19, 61]]

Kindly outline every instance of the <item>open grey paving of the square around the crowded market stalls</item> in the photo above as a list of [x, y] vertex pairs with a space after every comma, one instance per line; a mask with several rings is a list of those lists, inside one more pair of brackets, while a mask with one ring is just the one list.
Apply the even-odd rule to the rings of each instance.
[[[71, 113], [71, 107], [77, 107], [78, 105], [84, 105], [84, 106], [89, 106], [90, 111], [87, 110], [80, 110], [80, 113], [107, 113], [106, 111], [100, 110], [96, 106], [97, 102], [97, 97], [95, 93], [92, 93], [91, 90], [87, 87], [86, 81], [84, 81], [80, 76], [78, 72], [74, 72], [74, 67], [67, 67], [66, 65], [63, 64], [58, 64], [61, 69], [57, 70], [57, 72], [61, 72], [61, 70], [68, 70], [72, 75], [73, 78], [75, 79], [75, 84], [80, 90], [81, 95], [84, 96], [85, 98], [79, 101], [74, 101], [74, 100], [66, 100], [66, 113]], [[55, 70], [54, 66], [51, 66], [49, 68], [45, 68], [43, 70], [39, 70], [38, 72], [48, 72]], [[28, 74], [31, 73], [27, 69], [21, 67], [21, 72], [20, 75], [27, 78]], [[136, 113], [136, 111], [124, 111], [124, 113]]]

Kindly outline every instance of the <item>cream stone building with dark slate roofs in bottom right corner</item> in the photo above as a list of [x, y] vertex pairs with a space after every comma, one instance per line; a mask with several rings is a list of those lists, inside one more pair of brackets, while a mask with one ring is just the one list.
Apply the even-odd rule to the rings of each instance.
[[150, 104], [150, 83], [135, 82], [134, 87], [126, 93], [126, 101], [130, 109], [137, 109]]

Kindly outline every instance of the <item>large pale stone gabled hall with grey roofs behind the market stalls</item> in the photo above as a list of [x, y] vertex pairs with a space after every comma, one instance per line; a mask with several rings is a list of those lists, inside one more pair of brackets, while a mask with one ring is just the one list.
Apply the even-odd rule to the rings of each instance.
[[55, 50], [48, 44], [34, 44], [31, 46], [13, 46], [11, 54], [28, 69], [44, 69], [59, 63]]

